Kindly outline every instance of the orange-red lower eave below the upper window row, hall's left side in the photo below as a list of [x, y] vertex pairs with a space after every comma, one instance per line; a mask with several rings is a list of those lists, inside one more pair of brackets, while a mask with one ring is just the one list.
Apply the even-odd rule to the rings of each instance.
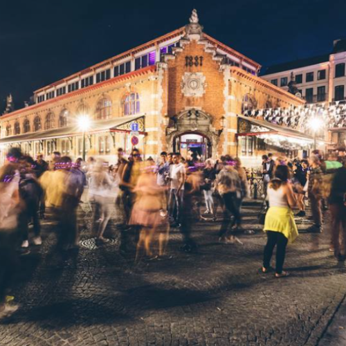
[[24, 108], [18, 109], [17, 111], [12, 111], [12, 113], [8, 113], [8, 114], [1, 116], [0, 122], [1, 122], [1, 120], [5, 119], [5, 118], [7, 119], [10, 116], [15, 116], [19, 113], [22, 113], [23, 111], [33, 111], [33, 109], [37, 109], [37, 108], [40, 108], [42, 106], [46, 106], [47, 104], [55, 103], [55, 102], [64, 100], [66, 98], [73, 98], [76, 95], [87, 93], [87, 92], [94, 90], [94, 89], [99, 89], [102, 86], [115, 84], [115, 83], [120, 82], [122, 80], [129, 80], [130, 78], [137, 77], [138, 75], [144, 75], [146, 73], [150, 73], [150, 72], [154, 72], [154, 71], [156, 71], [156, 65], [147, 66], [147, 67], [140, 69], [140, 70], [137, 70], [137, 71], [125, 73], [125, 75], [118, 75], [117, 77], [111, 78], [110, 80], [104, 80], [104, 82], [93, 84], [93, 85], [87, 86], [86, 88], [72, 91], [71, 93], [65, 93], [64, 95], [57, 96], [56, 98], [51, 98], [50, 100], [46, 100], [44, 102], [39, 102], [39, 103], [33, 104], [29, 107], [24, 107]]

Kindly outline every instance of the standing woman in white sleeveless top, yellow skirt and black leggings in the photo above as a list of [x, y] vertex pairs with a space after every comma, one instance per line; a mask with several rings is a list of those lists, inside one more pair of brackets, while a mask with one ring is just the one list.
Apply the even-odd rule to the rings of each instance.
[[298, 229], [291, 210], [296, 204], [296, 199], [289, 178], [289, 167], [286, 165], [277, 166], [274, 178], [268, 184], [267, 190], [269, 209], [264, 222], [267, 243], [264, 248], [262, 272], [268, 273], [271, 269], [271, 257], [276, 246], [275, 277], [289, 275], [289, 273], [282, 270], [286, 246], [298, 236]]

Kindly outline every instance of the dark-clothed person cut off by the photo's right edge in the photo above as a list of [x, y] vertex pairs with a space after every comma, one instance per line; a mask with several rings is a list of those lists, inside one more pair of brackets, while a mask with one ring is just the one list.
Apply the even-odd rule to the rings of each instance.
[[[339, 168], [334, 174], [329, 196], [329, 210], [331, 212], [331, 242], [337, 260], [345, 261], [346, 255], [346, 167]], [[342, 242], [340, 244], [340, 230]], [[343, 253], [341, 251], [343, 250]]]

